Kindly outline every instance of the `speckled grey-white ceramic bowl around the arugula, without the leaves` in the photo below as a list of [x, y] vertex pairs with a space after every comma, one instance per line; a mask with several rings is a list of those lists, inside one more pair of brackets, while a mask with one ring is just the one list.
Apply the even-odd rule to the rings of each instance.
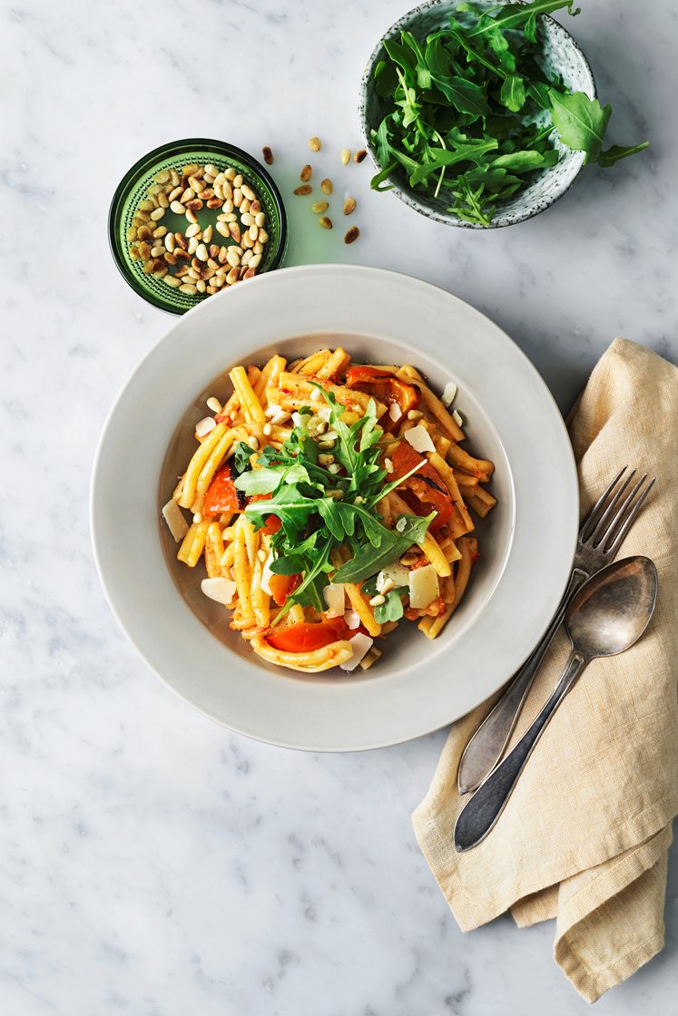
[[[382, 36], [367, 62], [360, 88], [359, 113], [365, 144], [377, 171], [381, 167], [377, 162], [376, 149], [372, 144], [371, 131], [379, 126], [383, 114], [381, 100], [374, 88], [373, 74], [376, 64], [385, 55], [384, 40], [398, 37], [403, 28], [412, 31], [418, 39], [422, 39], [439, 28], [446, 27], [456, 2], [457, 0], [451, 0], [451, 2], [450, 0], [427, 0], [426, 3], [415, 7], [398, 18]], [[480, 2], [484, 7], [496, 6], [496, 0], [491, 0], [491, 2], [490, 0], [480, 0]], [[499, 2], [504, 2], [504, 0], [499, 0]], [[583, 91], [590, 99], [596, 99], [596, 81], [589, 61], [569, 33], [547, 14], [540, 17], [538, 31], [543, 46], [545, 70], [559, 74], [572, 91]], [[560, 143], [558, 143], [558, 147], [562, 152], [562, 157], [557, 166], [545, 170], [536, 177], [529, 187], [513, 197], [506, 201], [497, 202], [490, 227], [466, 223], [457, 218], [456, 215], [447, 211], [449, 201], [445, 197], [434, 198], [424, 193], [414, 192], [408, 184], [405, 173], [400, 170], [395, 170], [388, 178], [388, 182], [392, 184], [391, 193], [399, 197], [400, 201], [405, 201], [415, 211], [435, 219], [436, 223], [459, 226], [466, 230], [514, 226], [526, 218], [532, 218], [533, 215], [539, 214], [540, 211], [544, 211], [554, 201], [557, 201], [570, 187], [583, 166], [583, 152], [572, 151]]]

